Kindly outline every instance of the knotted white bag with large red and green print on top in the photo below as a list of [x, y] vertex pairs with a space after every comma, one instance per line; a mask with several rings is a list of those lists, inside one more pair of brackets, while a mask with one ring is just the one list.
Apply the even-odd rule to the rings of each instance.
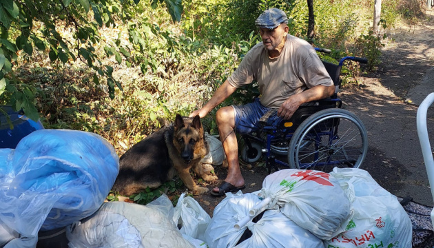
[[350, 202], [333, 176], [324, 172], [282, 169], [267, 176], [258, 194], [271, 200], [300, 227], [322, 240], [342, 232], [351, 216]]

